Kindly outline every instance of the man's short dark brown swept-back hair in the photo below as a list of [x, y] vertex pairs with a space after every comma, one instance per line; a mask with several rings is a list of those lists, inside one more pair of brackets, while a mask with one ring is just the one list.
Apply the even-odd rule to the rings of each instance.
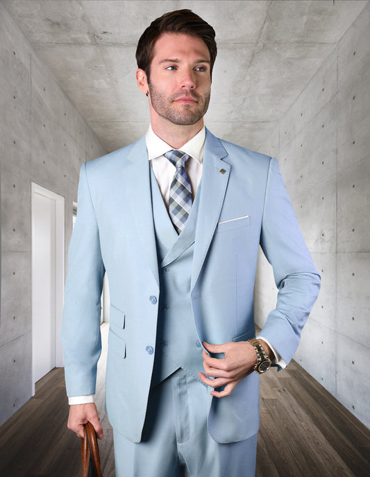
[[201, 38], [210, 52], [210, 73], [212, 76], [212, 68], [217, 55], [215, 30], [192, 10], [183, 9], [165, 13], [162, 17], [153, 20], [137, 43], [137, 67], [145, 71], [148, 81], [154, 45], [163, 33], [186, 33], [192, 37]]

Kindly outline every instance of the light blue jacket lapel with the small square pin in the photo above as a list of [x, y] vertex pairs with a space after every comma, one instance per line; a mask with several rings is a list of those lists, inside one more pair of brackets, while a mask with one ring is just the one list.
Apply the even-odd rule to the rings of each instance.
[[194, 288], [201, 272], [224, 204], [230, 165], [222, 159], [227, 155], [221, 141], [206, 130], [191, 289]]

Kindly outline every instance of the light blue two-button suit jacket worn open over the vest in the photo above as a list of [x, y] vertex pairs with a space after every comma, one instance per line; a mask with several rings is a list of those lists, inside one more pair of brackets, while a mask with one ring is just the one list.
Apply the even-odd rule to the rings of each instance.
[[[83, 164], [62, 325], [67, 394], [94, 394], [106, 271], [111, 300], [106, 410], [112, 426], [134, 442], [141, 439], [146, 413], [160, 293], [149, 167], [144, 138]], [[255, 336], [259, 245], [278, 287], [276, 309], [262, 333], [288, 363], [317, 298], [319, 275], [276, 159], [207, 130], [191, 280], [200, 342]], [[213, 398], [212, 437], [233, 442], [257, 432], [258, 401], [255, 373], [240, 381], [230, 397]]]

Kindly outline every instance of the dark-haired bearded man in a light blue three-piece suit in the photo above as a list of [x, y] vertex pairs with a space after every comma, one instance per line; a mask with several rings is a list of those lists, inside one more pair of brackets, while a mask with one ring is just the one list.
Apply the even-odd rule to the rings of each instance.
[[[68, 426], [82, 436], [90, 421], [103, 437], [92, 394], [106, 271], [117, 477], [253, 476], [259, 374], [290, 361], [319, 291], [276, 159], [204, 128], [216, 53], [190, 10], [153, 21], [136, 53], [149, 131], [81, 168], [62, 331]], [[255, 340], [259, 244], [278, 302]]]

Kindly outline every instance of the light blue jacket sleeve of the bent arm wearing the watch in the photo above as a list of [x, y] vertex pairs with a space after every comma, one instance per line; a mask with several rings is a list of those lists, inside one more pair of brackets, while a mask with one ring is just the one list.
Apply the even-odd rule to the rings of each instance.
[[260, 245], [273, 267], [278, 287], [276, 309], [269, 313], [260, 334], [289, 363], [317, 300], [320, 276], [305, 245], [274, 158], [269, 166]]

